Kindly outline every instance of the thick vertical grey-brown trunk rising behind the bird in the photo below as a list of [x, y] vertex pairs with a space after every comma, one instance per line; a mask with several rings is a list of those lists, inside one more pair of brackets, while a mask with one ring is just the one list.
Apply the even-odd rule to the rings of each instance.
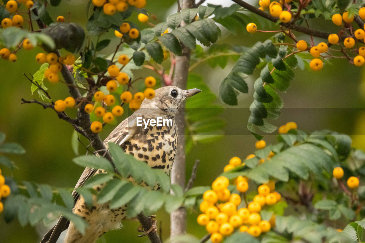
[[[195, 0], [182, 0], [181, 9], [193, 8]], [[184, 23], [181, 23], [183, 26]], [[188, 69], [190, 61], [190, 49], [183, 46], [181, 56], [176, 57], [175, 71], [173, 76], [173, 85], [186, 89], [188, 80]], [[175, 117], [176, 125], [180, 136], [177, 140], [177, 151], [174, 160], [174, 166], [171, 170], [171, 184], [178, 184], [183, 189], [185, 188], [185, 105], [181, 105]], [[184, 207], [178, 208], [170, 215], [171, 237], [184, 234], [186, 232], [186, 209]]]

